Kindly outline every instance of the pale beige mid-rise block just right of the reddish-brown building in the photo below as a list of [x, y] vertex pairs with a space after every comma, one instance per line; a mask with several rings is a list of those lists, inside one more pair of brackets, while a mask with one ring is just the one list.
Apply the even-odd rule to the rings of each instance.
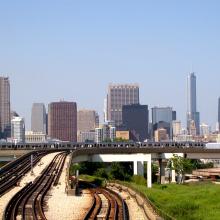
[[77, 112], [77, 130], [91, 131], [99, 125], [99, 117], [94, 110], [79, 110]]

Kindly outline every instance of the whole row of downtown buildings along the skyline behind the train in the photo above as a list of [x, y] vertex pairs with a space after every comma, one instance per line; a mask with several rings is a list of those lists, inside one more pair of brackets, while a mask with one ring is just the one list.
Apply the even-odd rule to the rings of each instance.
[[187, 77], [186, 129], [171, 106], [155, 106], [149, 112], [148, 105], [140, 102], [139, 94], [138, 84], [109, 84], [103, 123], [95, 110], [77, 109], [76, 102], [51, 102], [47, 108], [44, 103], [33, 103], [31, 130], [26, 131], [24, 118], [11, 111], [9, 78], [0, 77], [0, 137], [14, 143], [218, 141], [220, 98], [218, 126], [211, 132], [207, 124], [200, 124], [195, 73]]

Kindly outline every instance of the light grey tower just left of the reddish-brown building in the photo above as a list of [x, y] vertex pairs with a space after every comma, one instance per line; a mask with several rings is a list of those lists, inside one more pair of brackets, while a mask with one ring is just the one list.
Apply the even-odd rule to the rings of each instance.
[[46, 108], [43, 103], [34, 103], [32, 105], [31, 130], [46, 134]]

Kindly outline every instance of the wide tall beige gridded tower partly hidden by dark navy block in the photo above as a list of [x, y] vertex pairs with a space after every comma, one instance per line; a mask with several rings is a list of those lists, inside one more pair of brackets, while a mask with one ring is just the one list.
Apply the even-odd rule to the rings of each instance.
[[114, 121], [115, 126], [122, 125], [122, 106], [139, 104], [138, 84], [110, 84], [107, 94], [107, 120]]

